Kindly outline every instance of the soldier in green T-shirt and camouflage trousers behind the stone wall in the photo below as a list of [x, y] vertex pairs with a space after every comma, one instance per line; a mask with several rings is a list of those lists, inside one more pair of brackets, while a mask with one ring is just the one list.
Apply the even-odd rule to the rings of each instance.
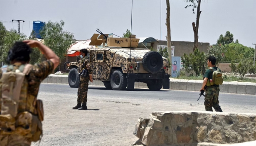
[[[209, 56], [207, 58], [207, 65], [208, 67], [213, 67], [215, 70], [217, 70], [217, 67], [215, 66], [216, 63], [216, 58], [214, 56]], [[220, 69], [219, 69], [220, 71]], [[207, 80], [210, 81], [212, 80], [212, 73], [209, 68], [206, 70], [204, 74], [204, 80], [202, 84], [201, 90], [205, 89], [205, 97], [204, 97], [204, 107], [206, 111], [212, 111], [212, 107], [216, 112], [222, 112], [221, 107], [219, 106], [219, 85], [207, 85]]]

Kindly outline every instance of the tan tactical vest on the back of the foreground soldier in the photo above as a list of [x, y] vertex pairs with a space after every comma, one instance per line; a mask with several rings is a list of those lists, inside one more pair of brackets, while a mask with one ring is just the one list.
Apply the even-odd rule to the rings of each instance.
[[30, 73], [31, 67], [30, 64], [21, 63], [2, 67], [0, 134], [18, 134], [36, 142], [42, 138], [44, 112], [42, 101], [32, 99], [27, 94], [26, 75]]

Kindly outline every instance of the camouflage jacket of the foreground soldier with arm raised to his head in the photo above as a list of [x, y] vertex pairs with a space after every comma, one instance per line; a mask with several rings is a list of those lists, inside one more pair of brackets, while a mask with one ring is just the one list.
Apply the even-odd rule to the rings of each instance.
[[[54, 68], [54, 64], [52, 61], [43, 61], [41, 63], [35, 64], [32, 66], [30, 73], [25, 76], [27, 78], [28, 90], [27, 90], [27, 98], [30, 98], [30, 101], [34, 101], [32, 103], [24, 103], [22, 105], [26, 105], [25, 107], [21, 107], [19, 105], [18, 112], [28, 111], [31, 113], [36, 113], [35, 104], [37, 100], [37, 94], [39, 91], [40, 83], [47, 78], [49, 74], [52, 73]], [[8, 72], [8, 70], [7, 70]], [[2, 68], [0, 68], [0, 78], [2, 78]], [[26, 98], [26, 97], [25, 97]], [[0, 100], [1, 104], [1, 100]]]

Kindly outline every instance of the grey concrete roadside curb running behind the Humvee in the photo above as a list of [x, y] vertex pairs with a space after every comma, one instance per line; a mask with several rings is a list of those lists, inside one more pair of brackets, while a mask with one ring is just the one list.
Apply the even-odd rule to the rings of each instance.
[[[42, 83], [69, 84], [68, 75], [50, 74]], [[202, 83], [203, 80], [170, 79], [170, 90], [199, 91]], [[103, 82], [98, 80], [94, 80], [94, 83], [89, 82], [89, 85], [104, 86]], [[136, 82], [134, 88], [148, 88], [148, 86], [145, 83]], [[256, 95], [256, 83], [224, 81], [219, 88], [221, 93]]]

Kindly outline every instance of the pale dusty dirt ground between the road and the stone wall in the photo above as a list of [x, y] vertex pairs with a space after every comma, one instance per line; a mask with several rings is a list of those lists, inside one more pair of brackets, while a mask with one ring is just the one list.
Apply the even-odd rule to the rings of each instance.
[[[58, 85], [51, 87], [58, 88]], [[53, 86], [54, 85], [54, 86]], [[49, 87], [49, 88], [51, 88]], [[66, 90], [66, 92], [65, 92]], [[69, 91], [71, 90], [71, 91]], [[133, 135], [139, 117], [152, 112], [195, 110], [204, 111], [201, 102], [138, 98], [130, 95], [88, 94], [89, 110], [72, 110], [76, 105], [77, 88], [62, 90], [40, 89], [38, 99], [43, 100], [43, 138], [40, 146], [131, 146], [138, 138]], [[198, 95], [199, 96], [199, 95]], [[197, 97], [196, 97], [197, 98]], [[226, 112], [255, 112], [255, 109], [222, 105]], [[32, 144], [38, 146], [38, 142]]]

